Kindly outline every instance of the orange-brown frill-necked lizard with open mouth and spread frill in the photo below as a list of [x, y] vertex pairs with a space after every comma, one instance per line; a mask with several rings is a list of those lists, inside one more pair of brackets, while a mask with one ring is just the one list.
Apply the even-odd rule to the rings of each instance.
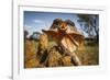
[[76, 66], [81, 65], [75, 52], [84, 41], [84, 35], [77, 31], [74, 22], [70, 20], [63, 21], [62, 19], [56, 19], [50, 30], [42, 30], [42, 32], [55, 38], [57, 45], [62, 46], [63, 50], [72, 56]]

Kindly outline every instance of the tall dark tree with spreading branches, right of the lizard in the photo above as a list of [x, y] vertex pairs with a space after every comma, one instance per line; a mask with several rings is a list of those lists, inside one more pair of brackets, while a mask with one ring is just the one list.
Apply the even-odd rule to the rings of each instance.
[[98, 14], [77, 14], [79, 18], [78, 23], [81, 30], [88, 34], [88, 36], [96, 37], [99, 41], [99, 15]]

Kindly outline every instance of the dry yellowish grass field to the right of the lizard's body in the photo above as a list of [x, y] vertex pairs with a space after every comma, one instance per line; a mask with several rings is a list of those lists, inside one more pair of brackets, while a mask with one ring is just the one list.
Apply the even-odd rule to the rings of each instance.
[[99, 65], [99, 47], [98, 45], [85, 45], [84, 49], [77, 52], [84, 66]]

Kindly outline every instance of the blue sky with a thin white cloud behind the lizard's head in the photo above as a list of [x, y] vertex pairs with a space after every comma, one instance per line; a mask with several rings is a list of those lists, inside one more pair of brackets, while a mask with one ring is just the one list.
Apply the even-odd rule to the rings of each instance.
[[74, 13], [53, 13], [53, 12], [33, 12], [33, 11], [24, 11], [24, 30], [29, 32], [31, 35], [33, 32], [37, 31], [42, 33], [43, 30], [48, 30], [55, 19], [62, 20], [72, 20], [76, 27], [80, 30], [80, 25], [78, 24], [77, 15]]

